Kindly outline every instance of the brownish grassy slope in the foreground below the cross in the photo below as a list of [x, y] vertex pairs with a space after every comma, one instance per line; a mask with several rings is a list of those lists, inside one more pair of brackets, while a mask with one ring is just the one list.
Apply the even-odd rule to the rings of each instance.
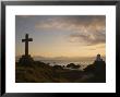
[[75, 82], [82, 77], [82, 71], [71, 71], [65, 69], [55, 69], [47, 64], [33, 64], [24, 66], [16, 64], [16, 82], [22, 83], [65, 83]]

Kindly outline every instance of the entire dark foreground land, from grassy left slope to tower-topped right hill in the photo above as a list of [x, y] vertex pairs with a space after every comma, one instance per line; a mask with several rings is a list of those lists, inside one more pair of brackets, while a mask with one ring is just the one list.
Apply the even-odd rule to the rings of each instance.
[[[28, 61], [29, 62], [29, 61]], [[71, 69], [67, 69], [67, 68]], [[84, 71], [79, 70], [80, 65], [70, 63], [67, 66], [49, 65], [40, 61], [32, 61], [29, 64], [16, 62], [16, 83], [105, 83], [106, 63], [97, 58]]]

